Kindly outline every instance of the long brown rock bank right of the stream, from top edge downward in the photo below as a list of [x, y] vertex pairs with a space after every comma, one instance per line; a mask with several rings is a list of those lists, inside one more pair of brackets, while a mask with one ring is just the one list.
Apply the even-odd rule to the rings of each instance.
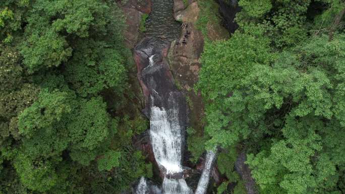
[[201, 31], [195, 27], [199, 12], [197, 2], [191, 2], [185, 9], [182, 0], [174, 1], [174, 17], [176, 20], [185, 21], [185, 23], [181, 26], [180, 38], [171, 43], [168, 53], [170, 69], [177, 85], [189, 98], [189, 125], [195, 128], [202, 128], [200, 123], [204, 112], [201, 95], [197, 95], [193, 91], [194, 84], [198, 81], [199, 59], [204, 48], [204, 37]]

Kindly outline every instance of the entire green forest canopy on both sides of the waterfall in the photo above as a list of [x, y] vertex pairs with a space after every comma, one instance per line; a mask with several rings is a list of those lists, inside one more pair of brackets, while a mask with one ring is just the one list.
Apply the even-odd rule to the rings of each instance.
[[[245, 193], [239, 148], [260, 193], [345, 193], [344, 3], [239, 6], [239, 29], [204, 47], [206, 133], [188, 140], [191, 160], [221, 147], [219, 194], [232, 182]], [[131, 144], [147, 123], [123, 108], [133, 98], [124, 27], [113, 0], [2, 1], [0, 193], [119, 193], [152, 176]]]

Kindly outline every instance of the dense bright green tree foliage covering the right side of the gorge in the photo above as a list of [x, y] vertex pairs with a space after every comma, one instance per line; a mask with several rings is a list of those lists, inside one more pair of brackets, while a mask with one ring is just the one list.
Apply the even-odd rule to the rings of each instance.
[[207, 42], [201, 58], [206, 146], [221, 146], [222, 161], [245, 148], [260, 193], [344, 193], [345, 4], [239, 6], [240, 28]]

